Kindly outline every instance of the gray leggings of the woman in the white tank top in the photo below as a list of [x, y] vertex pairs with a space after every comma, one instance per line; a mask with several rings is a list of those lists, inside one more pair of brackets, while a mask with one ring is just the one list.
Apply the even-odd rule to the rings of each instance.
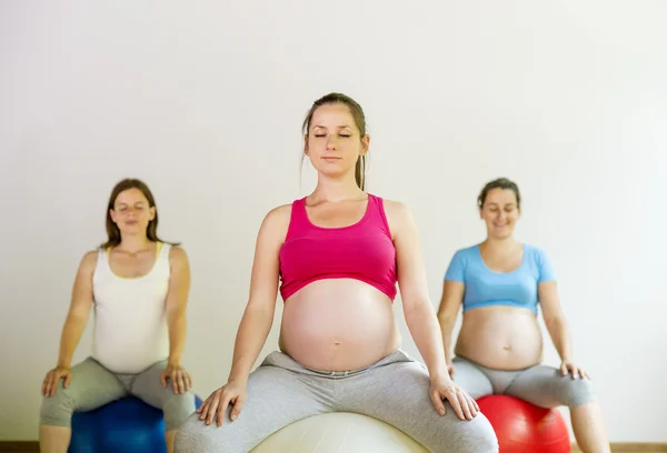
[[72, 379], [67, 389], [60, 381], [53, 396], [42, 397], [40, 423], [70, 426], [74, 411], [91, 411], [132, 394], [161, 409], [167, 431], [175, 430], [195, 411], [195, 394], [176, 394], [170, 382], [162, 386], [160, 373], [166, 365], [167, 361], [162, 361], [139, 374], [115, 374], [88, 358], [72, 368]]

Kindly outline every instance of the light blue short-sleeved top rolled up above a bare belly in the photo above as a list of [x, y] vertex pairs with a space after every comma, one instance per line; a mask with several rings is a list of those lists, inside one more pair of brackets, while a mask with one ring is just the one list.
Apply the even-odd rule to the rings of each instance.
[[479, 245], [458, 250], [445, 274], [445, 280], [465, 283], [464, 312], [489, 305], [509, 305], [528, 309], [537, 314], [537, 284], [556, 280], [547, 254], [524, 244], [524, 259], [511, 272], [496, 272], [487, 268]]

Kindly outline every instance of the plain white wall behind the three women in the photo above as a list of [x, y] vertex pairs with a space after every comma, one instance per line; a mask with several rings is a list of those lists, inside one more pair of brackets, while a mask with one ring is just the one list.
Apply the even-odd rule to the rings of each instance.
[[[123, 177], [190, 255], [195, 389], [225, 383], [259, 223], [311, 188], [299, 125], [342, 91], [368, 115], [369, 190], [415, 213], [434, 305], [482, 239], [478, 190], [517, 180], [519, 238], [554, 259], [611, 440], [667, 441], [667, 6], [616, 3], [2, 2], [0, 439], [37, 437], [74, 272]], [[76, 360], [89, 346], [90, 329]]]

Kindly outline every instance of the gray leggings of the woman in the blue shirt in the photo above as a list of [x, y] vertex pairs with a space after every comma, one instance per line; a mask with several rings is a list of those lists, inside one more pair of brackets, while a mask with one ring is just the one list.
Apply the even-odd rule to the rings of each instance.
[[566, 405], [575, 409], [595, 401], [588, 379], [564, 376], [560, 370], [535, 365], [519, 371], [501, 371], [481, 366], [467, 359], [454, 358], [454, 381], [470, 396], [508, 395], [540, 407]]

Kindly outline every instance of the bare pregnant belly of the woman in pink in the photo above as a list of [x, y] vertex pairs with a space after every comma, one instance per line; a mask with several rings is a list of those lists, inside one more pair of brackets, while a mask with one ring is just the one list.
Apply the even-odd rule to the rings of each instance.
[[285, 303], [280, 349], [305, 366], [358, 370], [399, 345], [391, 301], [358, 280], [319, 280]]

